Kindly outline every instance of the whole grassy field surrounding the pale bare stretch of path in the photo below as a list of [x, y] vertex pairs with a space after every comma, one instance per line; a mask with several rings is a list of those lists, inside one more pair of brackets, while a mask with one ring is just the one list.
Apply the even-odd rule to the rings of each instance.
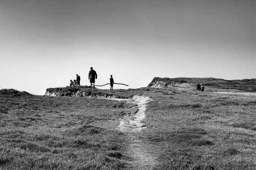
[[[100, 90], [110, 93], [108, 90]], [[0, 169], [255, 169], [256, 93], [184, 83], [114, 90], [149, 96], [146, 128], [120, 132], [134, 103], [0, 91]]]

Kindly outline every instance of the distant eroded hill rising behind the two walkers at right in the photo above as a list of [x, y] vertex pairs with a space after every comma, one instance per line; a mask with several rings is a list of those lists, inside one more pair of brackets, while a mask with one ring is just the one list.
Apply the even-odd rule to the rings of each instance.
[[247, 92], [256, 91], [256, 79], [224, 80], [220, 78], [159, 78], [155, 77], [148, 87], [170, 87], [175, 84], [189, 83], [196, 87], [196, 84], [203, 83], [204, 86], [211, 86], [217, 89], [236, 89]]

